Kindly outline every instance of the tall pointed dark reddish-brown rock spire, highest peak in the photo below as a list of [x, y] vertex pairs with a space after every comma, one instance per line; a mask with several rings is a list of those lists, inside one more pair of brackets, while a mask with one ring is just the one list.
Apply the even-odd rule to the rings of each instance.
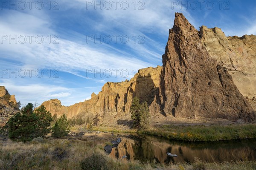
[[212, 58], [200, 32], [181, 13], [169, 30], [160, 79], [161, 109], [175, 117], [255, 120], [228, 69]]

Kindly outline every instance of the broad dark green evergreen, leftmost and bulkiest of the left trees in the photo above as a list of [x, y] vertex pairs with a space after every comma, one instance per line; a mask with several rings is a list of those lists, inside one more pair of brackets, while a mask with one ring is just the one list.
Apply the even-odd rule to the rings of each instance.
[[9, 138], [14, 141], [31, 141], [38, 137], [39, 117], [33, 113], [32, 103], [28, 103], [21, 113], [17, 113], [8, 121]]

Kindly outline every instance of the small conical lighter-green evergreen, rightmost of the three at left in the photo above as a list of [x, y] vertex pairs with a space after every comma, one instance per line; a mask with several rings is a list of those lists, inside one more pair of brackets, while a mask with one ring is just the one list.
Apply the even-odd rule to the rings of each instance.
[[63, 136], [67, 136], [70, 132], [68, 120], [66, 115], [62, 115], [57, 122], [55, 123], [54, 127], [52, 128], [52, 136], [55, 138], [60, 138]]

